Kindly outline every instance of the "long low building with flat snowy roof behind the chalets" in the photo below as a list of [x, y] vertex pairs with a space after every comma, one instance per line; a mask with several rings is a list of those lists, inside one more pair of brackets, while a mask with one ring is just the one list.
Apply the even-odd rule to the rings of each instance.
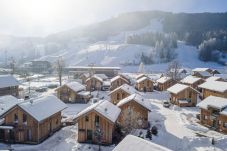
[[76, 75], [81, 75], [83, 73], [93, 74], [105, 74], [106, 76], [112, 78], [118, 75], [120, 67], [97, 67], [97, 66], [69, 66], [65, 68], [66, 72], [73, 71]]

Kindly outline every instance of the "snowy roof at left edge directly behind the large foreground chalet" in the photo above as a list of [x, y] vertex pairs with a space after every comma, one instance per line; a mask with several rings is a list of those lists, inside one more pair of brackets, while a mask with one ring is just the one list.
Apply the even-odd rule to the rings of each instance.
[[1, 96], [0, 97], [0, 116], [2, 116], [4, 113], [6, 113], [8, 110], [13, 108], [20, 102], [22, 101], [11, 95]]

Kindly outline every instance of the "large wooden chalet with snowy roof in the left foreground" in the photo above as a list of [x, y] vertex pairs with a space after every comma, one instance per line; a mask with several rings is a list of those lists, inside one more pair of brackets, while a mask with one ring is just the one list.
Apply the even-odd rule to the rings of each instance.
[[18, 103], [2, 115], [1, 136], [10, 143], [38, 144], [61, 128], [66, 107], [53, 95]]

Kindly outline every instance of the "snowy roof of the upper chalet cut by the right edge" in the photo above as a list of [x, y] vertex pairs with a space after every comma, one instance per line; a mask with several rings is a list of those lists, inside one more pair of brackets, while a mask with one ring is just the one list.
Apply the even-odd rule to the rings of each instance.
[[223, 92], [227, 91], [227, 82], [207, 81], [207, 82], [199, 85], [199, 87], [223, 93]]

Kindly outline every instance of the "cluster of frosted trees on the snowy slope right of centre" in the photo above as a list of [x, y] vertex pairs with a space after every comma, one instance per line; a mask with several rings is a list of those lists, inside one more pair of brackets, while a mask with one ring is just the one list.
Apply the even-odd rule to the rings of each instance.
[[153, 49], [148, 53], [140, 54], [140, 61], [144, 64], [164, 63], [173, 60], [176, 57], [175, 48], [177, 48], [177, 36], [174, 33], [143, 33], [128, 36], [128, 44], [140, 44], [152, 46]]

